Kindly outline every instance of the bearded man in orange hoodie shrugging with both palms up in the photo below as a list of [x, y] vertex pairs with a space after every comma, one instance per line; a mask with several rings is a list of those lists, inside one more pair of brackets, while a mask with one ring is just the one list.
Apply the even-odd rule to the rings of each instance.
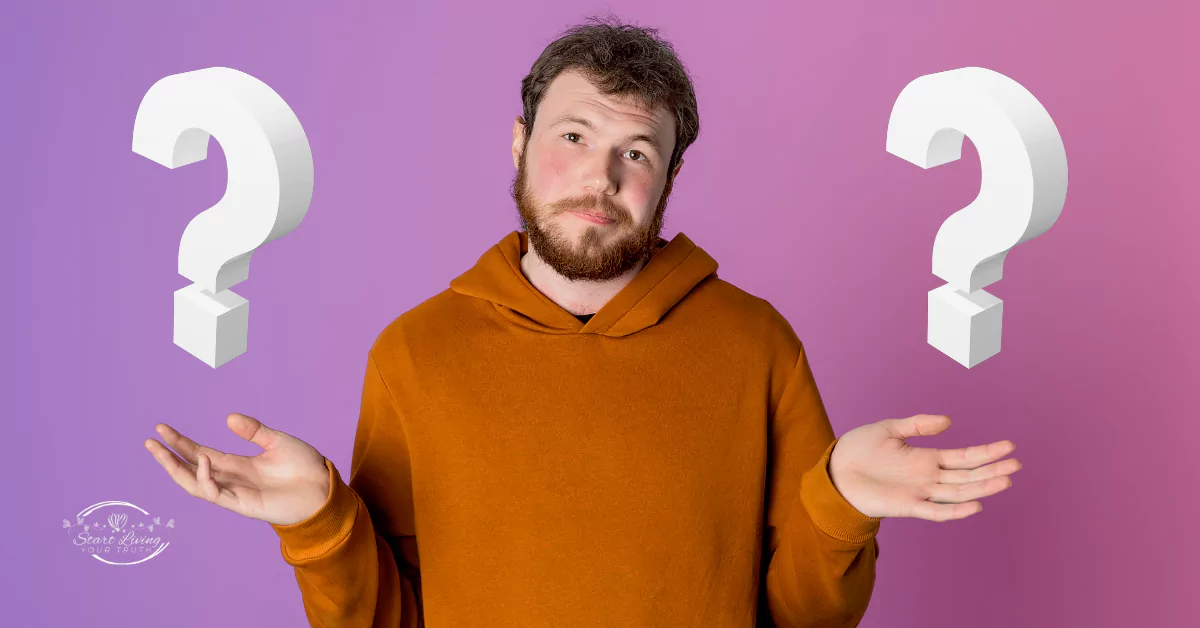
[[1015, 460], [977, 467], [1010, 443], [904, 443], [946, 417], [835, 439], [787, 321], [660, 238], [698, 116], [654, 32], [580, 26], [534, 64], [527, 231], [377, 337], [348, 484], [241, 414], [253, 459], [148, 441], [190, 494], [271, 522], [313, 626], [854, 626], [883, 516], [1008, 485]]

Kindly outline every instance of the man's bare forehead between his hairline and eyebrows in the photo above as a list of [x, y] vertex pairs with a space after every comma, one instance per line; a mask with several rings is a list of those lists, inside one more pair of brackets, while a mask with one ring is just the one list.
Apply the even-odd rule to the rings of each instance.
[[566, 70], [546, 88], [538, 110], [539, 126], [553, 125], [563, 115], [586, 118], [599, 125], [614, 124], [630, 131], [656, 136], [660, 143], [673, 143], [674, 116], [658, 107], [647, 110], [629, 98], [606, 96], [577, 71]]

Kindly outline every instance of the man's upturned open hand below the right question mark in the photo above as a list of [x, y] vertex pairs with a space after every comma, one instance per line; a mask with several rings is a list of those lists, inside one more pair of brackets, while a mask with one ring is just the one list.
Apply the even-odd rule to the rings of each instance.
[[929, 521], [962, 519], [983, 510], [978, 500], [1013, 485], [1012, 441], [962, 449], [924, 449], [905, 442], [950, 426], [944, 414], [884, 419], [838, 439], [829, 477], [838, 492], [866, 516], [912, 516]]

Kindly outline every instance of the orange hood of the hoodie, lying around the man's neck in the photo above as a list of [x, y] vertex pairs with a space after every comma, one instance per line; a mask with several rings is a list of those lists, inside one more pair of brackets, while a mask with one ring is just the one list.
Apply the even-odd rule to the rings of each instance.
[[634, 280], [584, 324], [521, 273], [521, 256], [528, 250], [526, 232], [509, 233], [451, 281], [450, 289], [491, 301], [514, 323], [538, 331], [625, 336], [658, 323], [704, 277], [716, 276], [716, 261], [686, 235], [679, 233], [671, 241], [659, 238]]

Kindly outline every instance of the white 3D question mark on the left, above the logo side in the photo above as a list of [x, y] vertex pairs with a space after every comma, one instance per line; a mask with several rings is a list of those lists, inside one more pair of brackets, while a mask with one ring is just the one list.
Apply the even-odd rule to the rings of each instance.
[[224, 150], [221, 201], [184, 229], [174, 342], [214, 369], [246, 352], [250, 301], [229, 287], [259, 246], [300, 225], [312, 201], [312, 151], [295, 113], [262, 80], [228, 67], [172, 74], [150, 86], [133, 121], [133, 152], [168, 168]]

